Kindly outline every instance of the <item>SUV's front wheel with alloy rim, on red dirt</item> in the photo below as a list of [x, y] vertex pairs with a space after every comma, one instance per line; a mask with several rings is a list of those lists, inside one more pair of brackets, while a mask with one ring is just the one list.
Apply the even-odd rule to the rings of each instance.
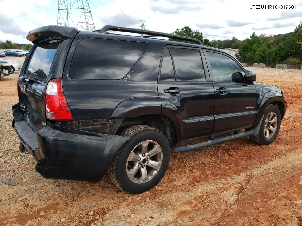
[[[267, 121], [270, 117], [269, 115], [272, 115], [272, 118], [269, 121]], [[272, 121], [274, 121], [274, 118], [276, 118], [277, 122], [271, 123]], [[271, 144], [276, 139], [279, 133], [280, 125], [281, 125], [280, 110], [276, 105], [270, 104], [265, 109], [258, 134], [256, 136], [249, 136], [249, 137], [251, 138], [252, 141], [254, 141], [257, 144], [261, 144], [261, 145]], [[271, 127], [272, 128], [275, 127], [274, 132], [272, 132]]]

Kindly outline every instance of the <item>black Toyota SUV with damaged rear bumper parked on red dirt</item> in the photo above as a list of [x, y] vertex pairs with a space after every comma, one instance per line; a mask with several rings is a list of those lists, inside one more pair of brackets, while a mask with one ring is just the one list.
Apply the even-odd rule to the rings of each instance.
[[282, 89], [255, 83], [230, 54], [198, 39], [114, 26], [46, 26], [27, 39], [34, 46], [12, 126], [46, 178], [98, 182], [107, 172], [120, 189], [141, 193], [165, 174], [170, 149], [246, 136], [268, 145], [286, 111]]

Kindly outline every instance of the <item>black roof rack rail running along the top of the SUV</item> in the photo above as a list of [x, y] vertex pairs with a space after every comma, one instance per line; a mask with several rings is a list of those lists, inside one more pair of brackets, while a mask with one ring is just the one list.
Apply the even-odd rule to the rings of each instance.
[[136, 28], [116, 27], [116, 26], [106, 25], [102, 29], [95, 30], [95, 31], [99, 31], [99, 32], [121, 31], [121, 32], [129, 32], [129, 33], [136, 33], [136, 34], [145, 34], [145, 35], [148, 35], [146, 37], [166, 37], [166, 38], [196, 42], [199, 45], [203, 45], [200, 40], [195, 39], [195, 38], [190, 38], [190, 37], [180, 36], [180, 35], [173, 35], [173, 34], [162, 33], [162, 32], [156, 32], [156, 31], [140, 30], [140, 29], [136, 29]]

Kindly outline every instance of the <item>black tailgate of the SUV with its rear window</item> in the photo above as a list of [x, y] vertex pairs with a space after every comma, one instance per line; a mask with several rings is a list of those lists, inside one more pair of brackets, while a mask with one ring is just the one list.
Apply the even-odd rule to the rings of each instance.
[[20, 109], [24, 120], [34, 130], [46, 125], [43, 93], [59, 43], [60, 40], [51, 40], [34, 46], [18, 79]]

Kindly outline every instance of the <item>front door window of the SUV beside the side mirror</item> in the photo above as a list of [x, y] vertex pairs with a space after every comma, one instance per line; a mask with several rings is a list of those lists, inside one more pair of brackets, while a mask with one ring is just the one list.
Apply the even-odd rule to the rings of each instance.
[[207, 52], [215, 82], [244, 82], [244, 71], [230, 57], [214, 52]]

